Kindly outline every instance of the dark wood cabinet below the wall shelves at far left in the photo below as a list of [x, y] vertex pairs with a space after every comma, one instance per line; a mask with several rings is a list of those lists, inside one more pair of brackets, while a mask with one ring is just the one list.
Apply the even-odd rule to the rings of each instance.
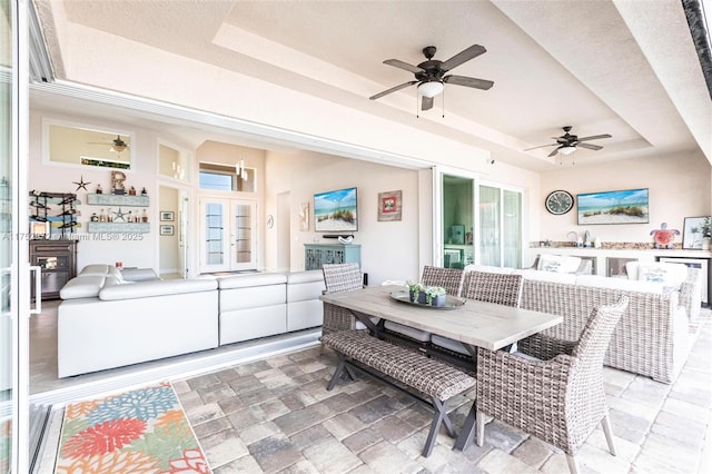
[[[30, 240], [30, 265], [41, 268], [41, 298], [59, 298], [62, 286], [77, 276], [77, 240]], [[32, 298], [36, 292], [32, 278]]]

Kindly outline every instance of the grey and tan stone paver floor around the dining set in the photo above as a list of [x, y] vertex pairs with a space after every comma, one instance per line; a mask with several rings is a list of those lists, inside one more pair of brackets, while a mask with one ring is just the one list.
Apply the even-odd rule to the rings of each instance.
[[[604, 368], [617, 456], [599, 427], [578, 452], [583, 473], [712, 472], [710, 310], [672, 385]], [[567, 473], [565, 455], [505, 424], [485, 444], [453, 451], [444, 434], [421, 452], [428, 409], [377, 379], [326, 385], [333, 353], [310, 348], [174, 382], [216, 474], [227, 473]], [[456, 429], [473, 394], [449, 402]]]

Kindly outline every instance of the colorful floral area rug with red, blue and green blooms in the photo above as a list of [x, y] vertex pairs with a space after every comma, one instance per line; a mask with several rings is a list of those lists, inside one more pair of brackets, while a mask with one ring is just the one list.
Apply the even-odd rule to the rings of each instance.
[[169, 383], [68, 404], [57, 474], [210, 473]]

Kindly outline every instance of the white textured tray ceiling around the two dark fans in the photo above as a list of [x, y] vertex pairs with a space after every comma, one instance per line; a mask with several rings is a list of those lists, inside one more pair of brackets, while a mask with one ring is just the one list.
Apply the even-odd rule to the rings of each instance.
[[[553, 168], [551, 144], [573, 126], [603, 150], [577, 164], [701, 150], [712, 161], [712, 101], [679, 0], [650, 1], [228, 1], [36, 0], [59, 78], [57, 23], [72, 22], [491, 150], [533, 170]], [[453, 73], [494, 81], [446, 85], [445, 106], [416, 111], [413, 80], [388, 58], [445, 60], [487, 52]], [[48, 106], [46, 97], [36, 102]], [[443, 112], [446, 119], [442, 118]], [[174, 124], [175, 126], [175, 124]], [[251, 144], [250, 144], [251, 145]]]

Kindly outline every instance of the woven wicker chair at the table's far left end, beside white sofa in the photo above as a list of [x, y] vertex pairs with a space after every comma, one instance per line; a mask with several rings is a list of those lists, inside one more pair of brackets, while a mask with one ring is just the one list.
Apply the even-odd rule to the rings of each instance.
[[[324, 284], [326, 294], [356, 292], [363, 289], [364, 280], [358, 264], [324, 264]], [[359, 325], [360, 326], [360, 325]], [[324, 324], [322, 335], [344, 329], [355, 329], [354, 315], [340, 306], [324, 303]]]

